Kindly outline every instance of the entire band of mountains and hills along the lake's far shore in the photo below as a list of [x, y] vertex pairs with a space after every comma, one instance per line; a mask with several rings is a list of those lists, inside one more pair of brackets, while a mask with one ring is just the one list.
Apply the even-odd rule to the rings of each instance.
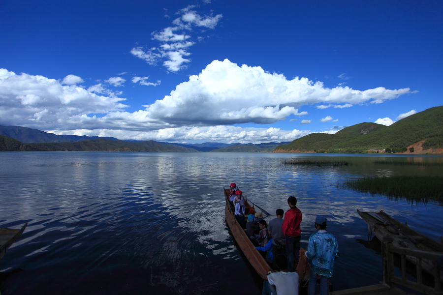
[[0, 151], [8, 150], [443, 153], [443, 106], [416, 113], [390, 126], [363, 122], [335, 134], [311, 133], [290, 143], [255, 145], [122, 141], [113, 137], [56, 135], [27, 127], [0, 125]]

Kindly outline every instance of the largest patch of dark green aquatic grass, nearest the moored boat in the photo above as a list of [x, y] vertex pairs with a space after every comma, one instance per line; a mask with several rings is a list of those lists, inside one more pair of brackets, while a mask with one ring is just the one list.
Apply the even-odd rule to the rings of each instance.
[[363, 177], [337, 184], [337, 188], [347, 188], [373, 195], [380, 194], [393, 200], [404, 198], [416, 204], [435, 201], [443, 206], [443, 177]]

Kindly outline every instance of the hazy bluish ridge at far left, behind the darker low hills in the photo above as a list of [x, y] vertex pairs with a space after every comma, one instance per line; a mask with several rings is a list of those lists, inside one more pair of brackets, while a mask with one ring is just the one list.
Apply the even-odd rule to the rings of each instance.
[[114, 137], [99, 136], [78, 136], [78, 135], [55, 135], [54, 133], [44, 132], [38, 129], [32, 129], [20, 126], [2, 126], [0, 125], [0, 135], [4, 135], [22, 143], [63, 143], [78, 142], [88, 139], [106, 138], [110, 140], [118, 140]]

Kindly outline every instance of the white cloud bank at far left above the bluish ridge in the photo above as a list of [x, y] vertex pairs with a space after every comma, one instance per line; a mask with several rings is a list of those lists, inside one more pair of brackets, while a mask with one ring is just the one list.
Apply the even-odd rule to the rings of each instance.
[[[105, 89], [101, 88], [100, 91]], [[76, 85], [63, 86], [63, 82], [55, 79], [23, 73], [17, 75], [0, 69], [1, 125], [40, 130], [66, 128], [69, 125], [67, 121], [80, 120], [88, 114], [123, 110], [127, 106], [120, 102], [124, 100], [116, 95], [97, 95]]]

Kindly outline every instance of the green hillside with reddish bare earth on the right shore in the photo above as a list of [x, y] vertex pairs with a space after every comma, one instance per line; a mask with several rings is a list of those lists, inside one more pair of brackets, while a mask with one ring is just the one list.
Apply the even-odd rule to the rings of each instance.
[[416, 113], [390, 126], [364, 122], [336, 134], [312, 133], [278, 146], [274, 151], [352, 153], [371, 148], [408, 151], [410, 147], [435, 149], [429, 152], [439, 152], [437, 149], [443, 148], [443, 106]]

